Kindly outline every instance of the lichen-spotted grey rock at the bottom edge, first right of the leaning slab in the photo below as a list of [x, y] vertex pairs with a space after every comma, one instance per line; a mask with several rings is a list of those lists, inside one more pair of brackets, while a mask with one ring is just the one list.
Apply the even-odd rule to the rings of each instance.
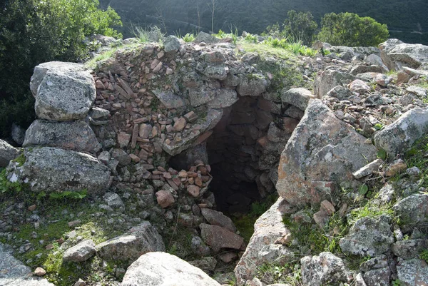
[[303, 257], [300, 263], [302, 284], [305, 286], [321, 286], [349, 280], [342, 259], [331, 252], [321, 252], [320, 256]]

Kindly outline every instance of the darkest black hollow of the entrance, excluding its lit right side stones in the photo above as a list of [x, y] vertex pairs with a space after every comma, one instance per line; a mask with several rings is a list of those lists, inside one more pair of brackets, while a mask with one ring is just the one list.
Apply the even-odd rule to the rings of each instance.
[[222, 120], [207, 141], [213, 175], [210, 190], [217, 209], [228, 215], [248, 213], [251, 203], [262, 200], [270, 191], [260, 177], [267, 178], [263, 138], [275, 118], [260, 108], [260, 101], [261, 96], [244, 96], [225, 108]]

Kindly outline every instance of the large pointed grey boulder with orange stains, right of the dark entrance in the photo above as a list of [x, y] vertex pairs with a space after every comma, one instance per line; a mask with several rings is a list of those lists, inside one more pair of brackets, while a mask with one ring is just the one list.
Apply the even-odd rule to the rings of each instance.
[[292, 205], [320, 203], [337, 180], [376, 158], [376, 148], [352, 126], [312, 100], [281, 154], [277, 191]]

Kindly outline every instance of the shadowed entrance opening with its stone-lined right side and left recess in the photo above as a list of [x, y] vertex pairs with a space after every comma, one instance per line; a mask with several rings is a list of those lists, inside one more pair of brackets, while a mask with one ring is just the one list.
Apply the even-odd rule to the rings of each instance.
[[275, 193], [280, 154], [291, 134], [285, 127], [297, 123], [282, 114], [281, 103], [263, 96], [242, 96], [223, 108], [222, 119], [204, 143], [169, 163], [177, 170], [188, 170], [197, 159], [209, 163], [209, 190], [217, 210], [240, 217], [250, 211], [252, 203]]

